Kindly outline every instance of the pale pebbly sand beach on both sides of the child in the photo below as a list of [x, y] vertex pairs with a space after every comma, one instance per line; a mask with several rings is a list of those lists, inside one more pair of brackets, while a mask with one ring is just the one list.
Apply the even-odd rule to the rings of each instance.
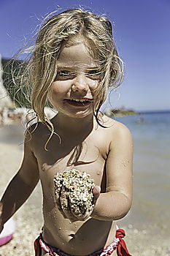
[[[15, 125], [0, 127], [0, 158], [1, 179], [0, 194], [15, 175], [23, 158], [23, 128]], [[169, 218], [169, 211], [164, 216], [158, 205], [149, 205], [148, 208], [158, 209], [159, 223], [150, 222], [152, 211], [147, 211], [147, 204], [143, 204], [143, 196], [138, 193], [139, 176], [134, 177], [134, 204], [131, 212], [123, 220], [118, 222], [121, 228], [125, 228], [125, 241], [131, 255], [138, 256], [169, 256], [170, 255], [170, 233], [169, 224], [163, 221]], [[142, 198], [141, 198], [142, 197]], [[140, 198], [140, 200], [139, 200]], [[168, 202], [169, 203], [169, 202]], [[146, 217], [139, 211], [145, 211]], [[145, 208], [144, 208], [145, 207]], [[169, 206], [167, 207], [169, 210]], [[164, 210], [163, 210], [164, 211]], [[151, 215], [151, 216], [150, 216]], [[159, 218], [160, 217], [160, 218]], [[39, 235], [42, 227], [42, 192], [40, 184], [34, 189], [31, 197], [15, 214], [15, 236], [8, 244], [0, 247], [0, 256], [30, 256], [34, 255], [34, 239]]]

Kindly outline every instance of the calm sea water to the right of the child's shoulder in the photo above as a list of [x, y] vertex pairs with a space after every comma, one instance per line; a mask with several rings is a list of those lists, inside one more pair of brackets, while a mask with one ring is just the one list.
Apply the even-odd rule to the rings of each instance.
[[170, 234], [170, 111], [116, 119], [134, 138], [134, 203], [123, 223]]

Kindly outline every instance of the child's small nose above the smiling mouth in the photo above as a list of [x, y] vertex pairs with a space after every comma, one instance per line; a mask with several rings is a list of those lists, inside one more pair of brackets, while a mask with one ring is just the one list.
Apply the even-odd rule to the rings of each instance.
[[72, 84], [72, 91], [88, 91], [88, 81], [85, 75], [77, 75]]

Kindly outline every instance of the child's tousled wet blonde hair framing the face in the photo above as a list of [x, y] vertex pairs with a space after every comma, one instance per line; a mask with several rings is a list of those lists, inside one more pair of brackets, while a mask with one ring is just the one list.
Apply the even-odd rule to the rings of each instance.
[[52, 17], [48, 15], [38, 32], [34, 48], [31, 48], [31, 59], [22, 80], [26, 81], [24, 86], [31, 88], [32, 108], [46, 125], [50, 120], [45, 116], [44, 109], [49, 103], [48, 93], [57, 74], [56, 61], [63, 42], [77, 36], [85, 38], [90, 53], [97, 56], [101, 66], [101, 80], [93, 102], [97, 120], [99, 108], [107, 98], [108, 87], [116, 88], [123, 80], [123, 61], [118, 56], [112, 37], [112, 24], [104, 15], [82, 9], [69, 9]]

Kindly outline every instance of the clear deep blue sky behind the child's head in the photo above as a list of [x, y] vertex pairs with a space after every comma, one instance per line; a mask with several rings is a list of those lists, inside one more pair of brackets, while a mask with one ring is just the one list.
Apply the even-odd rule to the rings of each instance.
[[110, 96], [112, 107], [170, 110], [169, 0], [0, 0], [1, 56], [11, 58], [47, 13], [80, 5], [115, 23], [125, 79]]

